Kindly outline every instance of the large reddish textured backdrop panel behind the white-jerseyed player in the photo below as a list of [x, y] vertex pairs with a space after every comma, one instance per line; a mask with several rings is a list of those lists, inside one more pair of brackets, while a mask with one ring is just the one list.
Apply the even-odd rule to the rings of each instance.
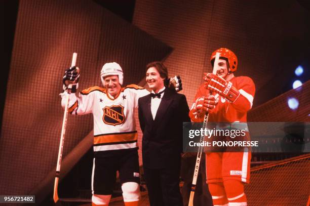
[[[63, 110], [62, 76], [78, 53], [80, 88], [100, 86], [106, 61], [125, 83], [139, 83], [147, 62], [171, 48], [92, 1], [20, 1], [0, 139], [1, 194], [25, 194], [56, 166]], [[69, 116], [63, 157], [93, 127]]]

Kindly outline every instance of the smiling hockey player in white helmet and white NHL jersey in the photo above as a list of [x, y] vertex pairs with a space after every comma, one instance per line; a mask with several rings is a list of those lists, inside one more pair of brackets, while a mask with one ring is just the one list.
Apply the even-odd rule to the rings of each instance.
[[137, 85], [122, 87], [124, 74], [118, 63], [104, 64], [100, 75], [103, 88], [91, 87], [76, 97], [79, 70], [77, 67], [67, 69], [63, 77], [62, 107], [69, 81], [74, 84], [69, 94], [69, 113], [93, 113], [92, 205], [108, 205], [119, 171], [125, 206], [136, 206], [140, 199], [140, 174], [134, 108], [138, 106], [139, 97], [149, 92]]

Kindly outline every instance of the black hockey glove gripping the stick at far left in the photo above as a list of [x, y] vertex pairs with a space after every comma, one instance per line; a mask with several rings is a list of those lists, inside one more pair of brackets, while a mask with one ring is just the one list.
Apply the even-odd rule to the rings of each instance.
[[72, 85], [72, 93], [79, 87], [80, 69], [79, 67], [72, 66], [65, 70], [65, 74], [62, 77], [63, 90], [68, 89], [68, 85]]

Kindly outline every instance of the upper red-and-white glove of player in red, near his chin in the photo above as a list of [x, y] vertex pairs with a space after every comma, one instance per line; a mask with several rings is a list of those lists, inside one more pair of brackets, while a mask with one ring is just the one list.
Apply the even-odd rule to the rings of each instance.
[[230, 102], [234, 102], [240, 95], [240, 92], [232, 86], [230, 81], [217, 76], [213, 73], [204, 73], [204, 80], [206, 81], [205, 89], [215, 92]]

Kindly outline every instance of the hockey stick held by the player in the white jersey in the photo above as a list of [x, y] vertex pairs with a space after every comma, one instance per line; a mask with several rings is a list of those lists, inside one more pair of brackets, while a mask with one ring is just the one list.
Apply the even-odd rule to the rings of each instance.
[[[77, 55], [78, 55], [77, 53], [73, 53], [71, 67], [75, 66]], [[65, 105], [65, 111], [64, 111], [63, 120], [62, 120], [61, 136], [60, 136], [58, 158], [57, 158], [57, 167], [56, 167], [56, 177], [55, 177], [55, 184], [54, 184], [54, 194], [53, 194], [53, 198], [54, 198], [55, 203], [59, 199], [57, 190], [58, 190], [58, 181], [59, 181], [59, 176], [60, 176], [60, 164], [61, 164], [64, 136], [65, 136], [65, 132], [66, 132], [66, 125], [67, 125], [67, 119], [68, 119], [68, 107], [69, 107], [69, 100], [70, 100], [69, 94], [71, 93], [71, 88], [72, 88], [72, 85], [70, 84], [68, 86], [68, 95], [66, 95], [66, 105]]]

